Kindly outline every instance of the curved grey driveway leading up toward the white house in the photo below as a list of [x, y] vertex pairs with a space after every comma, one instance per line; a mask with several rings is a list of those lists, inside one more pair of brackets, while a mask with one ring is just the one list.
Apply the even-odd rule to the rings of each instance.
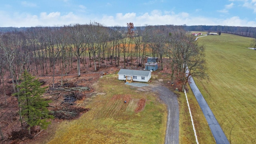
[[179, 143], [179, 104], [176, 94], [165, 86], [155, 86], [153, 91], [159, 94], [159, 98], [166, 104], [168, 110], [165, 144]]

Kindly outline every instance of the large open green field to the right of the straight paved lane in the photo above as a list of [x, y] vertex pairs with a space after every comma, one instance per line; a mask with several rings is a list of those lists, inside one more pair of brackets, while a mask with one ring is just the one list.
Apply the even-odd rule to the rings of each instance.
[[256, 143], [256, 50], [252, 38], [222, 33], [198, 39], [209, 80], [195, 82], [230, 143]]

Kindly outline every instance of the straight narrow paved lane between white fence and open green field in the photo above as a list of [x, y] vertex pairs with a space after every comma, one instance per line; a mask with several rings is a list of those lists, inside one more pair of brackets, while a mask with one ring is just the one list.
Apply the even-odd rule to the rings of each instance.
[[208, 125], [212, 131], [212, 135], [214, 136], [214, 139], [216, 141], [216, 144], [229, 144], [229, 141], [224, 134], [222, 128], [220, 127], [220, 124], [216, 120], [214, 114], [212, 113], [212, 110], [208, 106], [206, 100], [204, 99], [203, 95], [199, 91], [198, 87], [196, 86], [194, 79], [190, 77], [190, 87], [196, 97], [196, 100], [202, 109], [204, 116], [208, 122]]

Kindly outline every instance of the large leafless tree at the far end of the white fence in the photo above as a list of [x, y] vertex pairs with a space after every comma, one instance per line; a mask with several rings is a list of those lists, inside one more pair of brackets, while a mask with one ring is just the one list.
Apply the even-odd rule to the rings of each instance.
[[190, 76], [208, 78], [204, 59], [204, 46], [184, 31], [176, 30], [171, 35], [172, 62], [176, 66], [176, 78], [182, 83], [184, 91]]

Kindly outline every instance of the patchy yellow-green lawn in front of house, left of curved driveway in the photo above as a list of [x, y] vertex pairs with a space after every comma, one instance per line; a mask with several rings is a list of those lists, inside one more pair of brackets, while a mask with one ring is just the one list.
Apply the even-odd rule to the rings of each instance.
[[[164, 143], [167, 110], [152, 92], [125, 85], [116, 74], [103, 76], [91, 87], [97, 92], [78, 102], [91, 110], [77, 120], [62, 122], [48, 144]], [[143, 100], [146, 105], [136, 112]]]

